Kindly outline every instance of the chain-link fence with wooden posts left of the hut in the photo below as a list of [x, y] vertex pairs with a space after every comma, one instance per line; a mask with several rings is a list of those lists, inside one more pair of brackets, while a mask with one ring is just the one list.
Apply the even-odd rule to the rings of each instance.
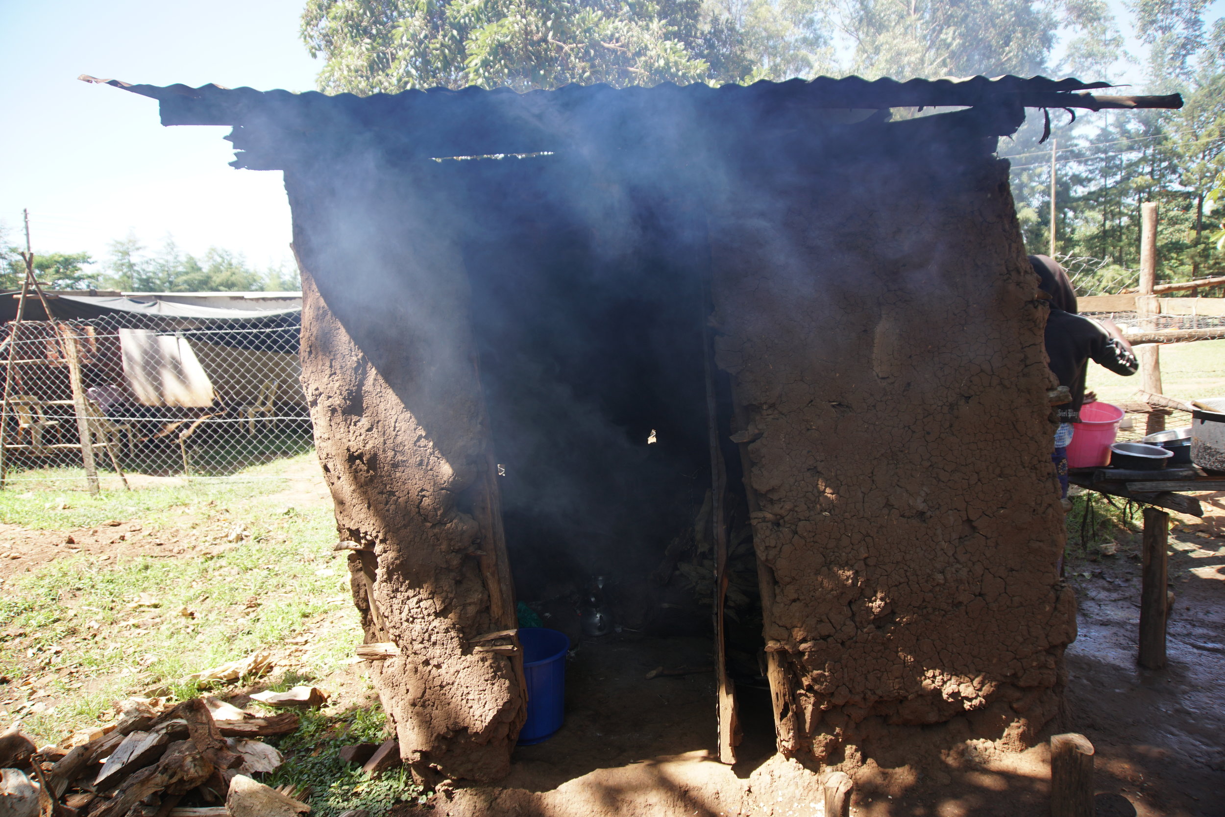
[[80, 479], [86, 442], [97, 470], [116, 476], [244, 478], [309, 451], [299, 329], [296, 310], [6, 323], [2, 479]]

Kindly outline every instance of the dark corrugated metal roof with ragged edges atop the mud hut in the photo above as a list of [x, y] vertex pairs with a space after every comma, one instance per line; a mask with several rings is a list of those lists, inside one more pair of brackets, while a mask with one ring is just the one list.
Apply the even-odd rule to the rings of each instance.
[[[750, 86], [665, 82], [652, 88], [570, 85], [518, 93], [478, 87], [404, 91], [358, 97], [255, 91], [207, 85], [130, 85], [97, 80], [160, 103], [163, 125], [234, 125], [244, 151], [236, 167], [285, 167], [306, 153], [345, 151], [372, 134], [404, 156], [473, 156], [561, 149], [576, 142], [620, 146], [693, 138], [717, 132], [811, 130], [824, 109], [975, 108], [984, 135], [1011, 134], [1024, 108], [1177, 108], [1174, 97], [1100, 97], [1105, 82], [1002, 76], [943, 80], [817, 77]], [[996, 111], [992, 114], [991, 111]], [[949, 120], [956, 121], [956, 120]], [[306, 153], [304, 153], [304, 151]], [[288, 157], [288, 158], [287, 158]]]

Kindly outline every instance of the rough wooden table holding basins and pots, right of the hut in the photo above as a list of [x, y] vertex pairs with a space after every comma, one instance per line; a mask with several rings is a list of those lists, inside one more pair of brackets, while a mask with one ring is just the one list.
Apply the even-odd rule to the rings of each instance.
[[1191, 479], [1163, 479], [1163, 472], [1114, 472], [1109, 468], [1080, 468], [1068, 473], [1068, 481], [1090, 491], [1139, 502], [1144, 508], [1140, 561], [1139, 663], [1150, 670], [1165, 666], [1165, 625], [1170, 615], [1166, 585], [1170, 574], [1170, 514], [1160, 508], [1202, 517], [1196, 491], [1225, 491], [1225, 478], [1194, 469]]

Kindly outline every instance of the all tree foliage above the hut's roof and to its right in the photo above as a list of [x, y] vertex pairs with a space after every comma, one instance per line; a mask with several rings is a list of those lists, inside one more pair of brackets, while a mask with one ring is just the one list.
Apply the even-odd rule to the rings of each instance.
[[[1150, 200], [1161, 205], [1163, 274], [1225, 274], [1225, 22], [1205, 23], [1209, 4], [1123, 1], [1147, 49], [1144, 91], [1182, 93], [1182, 110], [1056, 122], [1057, 249], [1095, 258], [1112, 279], [1134, 277], [1139, 203]], [[323, 59], [320, 89], [358, 94], [849, 73], [1111, 80], [1134, 65], [1107, 0], [306, 0], [301, 22]], [[1051, 207], [1041, 132], [1030, 116], [1000, 151], [1013, 158], [1035, 251], [1047, 247]]]

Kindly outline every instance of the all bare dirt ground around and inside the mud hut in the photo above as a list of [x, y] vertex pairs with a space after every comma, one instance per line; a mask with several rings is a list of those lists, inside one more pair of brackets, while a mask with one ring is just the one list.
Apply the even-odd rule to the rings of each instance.
[[[315, 500], [321, 485], [303, 479], [287, 501]], [[1079, 636], [1067, 654], [1068, 688], [1058, 730], [1085, 734], [1098, 752], [1099, 817], [1208, 817], [1225, 813], [1225, 495], [1200, 497], [1208, 516], [1177, 516], [1171, 532], [1170, 579], [1176, 601], [1169, 626], [1170, 665], [1136, 665], [1139, 611], [1139, 537], [1123, 535], [1066, 572], [1079, 600]], [[0, 525], [0, 578], [70, 552], [94, 555], [99, 567], [136, 554], [202, 556], [232, 546], [224, 517], [202, 507], [181, 525], [111, 521], [69, 532]], [[194, 522], [203, 524], [192, 527]], [[69, 541], [71, 539], [71, 541]], [[110, 562], [113, 563], [113, 561]], [[331, 616], [311, 633], [328, 637]], [[10, 637], [16, 633], [10, 633]], [[22, 641], [20, 636], [17, 642]], [[293, 648], [287, 646], [287, 648]], [[715, 757], [714, 687], [709, 672], [647, 674], [658, 668], [706, 668], [704, 638], [641, 638], [632, 633], [587, 639], [567, 663], [566, 724], [551, 740], [514, 752], [499, 786], [459, 788], [434, 810], [469, 815], [763, 815], [818, 817], [813, 773], [773, 753], [768, 695], [739, 690], [745, 731], [740, 763]], [[82, 691], [88, 691], [88, 679]], [[320, 685], [334, 706], [369, 703], [364, 666], [350, 665]], [[258, 688], [258, 687], [256, 687]], [[254, 690], [243, 690], [251, 692]], [[239, 690], [230, 690], [243, 703]], [[48, 703], [58, 703], [48, 698]], [[1044, 746], [1019, 756], [947, 757], [937, 769], [907, 774], [876, 769], [856, 791], [864, 817], [969, 815], [1045, 816]]]

